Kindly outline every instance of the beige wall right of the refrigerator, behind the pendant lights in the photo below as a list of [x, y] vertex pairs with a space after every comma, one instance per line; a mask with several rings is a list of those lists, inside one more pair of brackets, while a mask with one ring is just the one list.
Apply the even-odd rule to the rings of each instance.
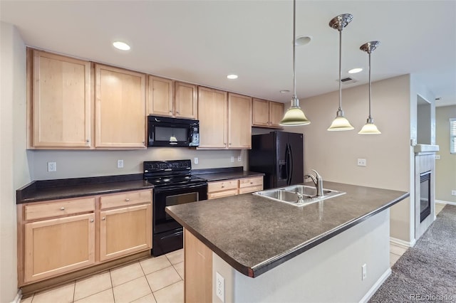
[[[311, 124], [286, 129], [304, 133], [306, 173], [316, 169], [323, 180], [411, 191], [410, 75], [372, 83], [372, 117], [380, 135], [358, 134], [368, 117], [368, 85], [342, 91], [343, 110], [355, 127], [348, 132], [326, 130], [336, 117], [338, 91], [301, 100], [301, 107]], [[357, 166], [358, 158], [367, 166]], [[413, 241], [412, 214], [410, 198], [391, 208], [391, 237]]]

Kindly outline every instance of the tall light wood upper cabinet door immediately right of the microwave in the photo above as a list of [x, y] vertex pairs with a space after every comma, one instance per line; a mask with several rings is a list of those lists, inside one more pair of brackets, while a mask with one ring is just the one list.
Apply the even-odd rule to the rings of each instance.
[[227, 102], [227, 92], [198, 87], [199, 148], [227, 148]]

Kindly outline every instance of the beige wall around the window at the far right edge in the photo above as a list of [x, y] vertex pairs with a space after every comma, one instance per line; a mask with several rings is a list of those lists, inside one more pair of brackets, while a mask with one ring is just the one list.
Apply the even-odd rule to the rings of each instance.
[[450, 154], [450, 118], [456, 118], [456, 105], [435, 109], [436, 144], [440, 160], [435, 161], [435, 199], [456, 203], [456, 154]]

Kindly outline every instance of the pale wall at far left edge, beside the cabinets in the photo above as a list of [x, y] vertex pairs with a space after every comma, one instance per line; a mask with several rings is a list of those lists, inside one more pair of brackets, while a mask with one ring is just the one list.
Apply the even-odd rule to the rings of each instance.
[[0, 23], [0, 302], [17, 294], [16, 188], [30, 181], [26, 159], [25, 46], [18, 31]]

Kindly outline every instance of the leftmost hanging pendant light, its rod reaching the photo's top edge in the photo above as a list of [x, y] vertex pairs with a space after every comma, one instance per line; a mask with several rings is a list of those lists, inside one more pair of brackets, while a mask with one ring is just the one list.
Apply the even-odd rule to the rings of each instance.
[[291, 105], [286, 110], [284, 117], [279, 123], [282, 126], [297, 126], [311, 124], [306, 118], [304, 112], [299, 107], [299, 99], [296, 97], [296, 63], [295, 63], [295, 46], [296, 46], [296, 0], [293, 0], [293, 96]]

